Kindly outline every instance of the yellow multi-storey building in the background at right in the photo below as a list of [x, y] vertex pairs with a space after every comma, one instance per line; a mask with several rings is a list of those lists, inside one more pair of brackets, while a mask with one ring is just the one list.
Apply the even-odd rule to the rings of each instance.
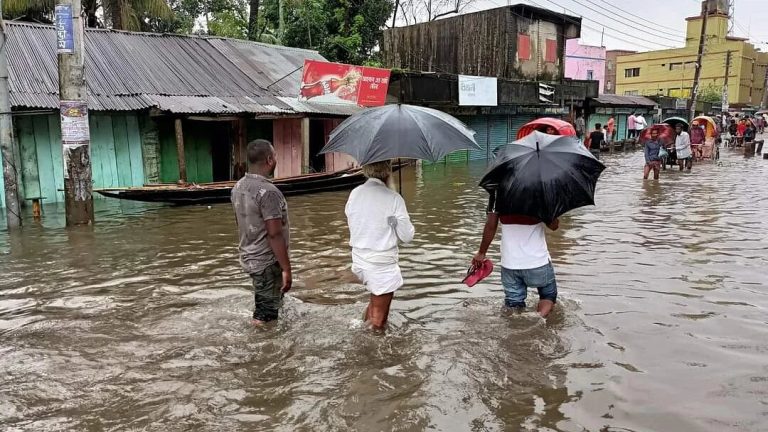
[[[726, 59], [731, 53], [728, 73], [728, 101], [733, 107], [760, 105], [766, 79], [768, 53], [755, 49], [747, 39], [728, 36], [728, 11], [713, 5], [707, 17], [705, 50], [702, 58], [700, 92], [724, 88]], [[649, 51], [618, 57], [616, 94], [688, 98], [693, 87], [704, 7], [699, 16], [686, 18], [685, 47]]]

